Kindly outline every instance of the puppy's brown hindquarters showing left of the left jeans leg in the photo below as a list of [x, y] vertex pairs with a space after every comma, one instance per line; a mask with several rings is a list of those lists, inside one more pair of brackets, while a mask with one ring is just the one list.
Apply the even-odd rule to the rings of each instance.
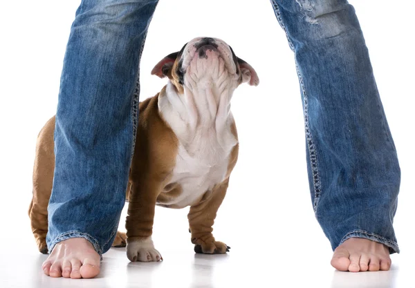
[[29, 207], [30, 226], [41, 253], [48, 253], [46, 233], [48, 233], [48, 203], [52, 192], [55, 153], [53, 133], [55, 117], [46, 122], [36, 143], [35, 165], [33, 167], [33, 198]]

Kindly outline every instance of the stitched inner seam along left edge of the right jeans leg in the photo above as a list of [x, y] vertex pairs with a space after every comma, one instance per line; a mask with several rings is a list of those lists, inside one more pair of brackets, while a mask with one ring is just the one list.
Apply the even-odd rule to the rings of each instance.
[[[295, 52], [293, 42], [291, 41], [290, 37], [288, 36], [288, 32], [287, 32], [286, 27], [284, 25], [284, 21], [282, 21], [281, 13], [279, 12], [279, 6], [278, 6], [278, 4], [275, 0], [270, 0], [270, 1], [274, 6], [275, 16], [277, 17], [279, 25], [282, 27], [282, 29], [286, 33], [286, 37], [288, 39], [288, 44], [289, 44], [291, 50], [293, 50]], [[315, 149], [315, 144], [313, 142], [313, 136], [311, 135], [311, 130], [310, 130], [309, 122], [308, 122], [308, 96], [307, 96], [307, 93], [306, 93], [306, 89], [304, 87], [304, 80], [302, 78], [302, 74], [299, 72], [299, 67], [297, 65], [297, 61], [295, 63], [295, 68], [297, 70], [299, 84], [301, 86], [302, 95], [303, 95], [303, 99], [304, 99], [304, 126], [305, 126], [304, 128], [305, 128], [305, 131], [306, 131], [306, 142], [307, 142], [308, 153], [309, 153], [309, 157], [310, 157], [310, 166], [311, 166], [311, 174], [312, 174], [311, 177], [313, 177], [313, 179], [312, 179], [313, 189], [314, 189], [313, 209], [314, 209], [314, 212], [316, 212], [317, 211], [317, 204], [320, 200], [320, 195], [321, 195], [321, 192], [322, 192], [322, 184], [321, 184], [321, 181], [320, 181], [320, 173], [318, 172], [317, 151]]]

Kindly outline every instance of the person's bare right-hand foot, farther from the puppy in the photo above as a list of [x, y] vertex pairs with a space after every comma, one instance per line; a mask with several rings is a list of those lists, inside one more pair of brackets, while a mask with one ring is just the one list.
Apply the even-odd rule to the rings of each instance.
[[364, 238], [349, 238], [337, 247], [331, 266], [340, 271], [387, 271], [391, 267], [389, 248]]

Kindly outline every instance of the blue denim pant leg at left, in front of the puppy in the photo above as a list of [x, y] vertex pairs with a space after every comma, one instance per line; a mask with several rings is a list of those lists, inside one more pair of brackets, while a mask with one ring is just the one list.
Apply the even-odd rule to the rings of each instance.
[[102, 255], [124, 206], [138, 64], [158, 0], [83, 0], [66, 47], [46, 242], [86, 238]]

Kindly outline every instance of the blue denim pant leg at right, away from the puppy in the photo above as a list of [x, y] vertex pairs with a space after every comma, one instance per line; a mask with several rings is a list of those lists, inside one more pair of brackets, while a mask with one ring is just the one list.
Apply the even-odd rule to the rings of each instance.
[[400, 168], [353, 6], [271, 3], [295, 52], [318, 222], [333, 249], [357, 237], [399, 252], [392, 223]]

